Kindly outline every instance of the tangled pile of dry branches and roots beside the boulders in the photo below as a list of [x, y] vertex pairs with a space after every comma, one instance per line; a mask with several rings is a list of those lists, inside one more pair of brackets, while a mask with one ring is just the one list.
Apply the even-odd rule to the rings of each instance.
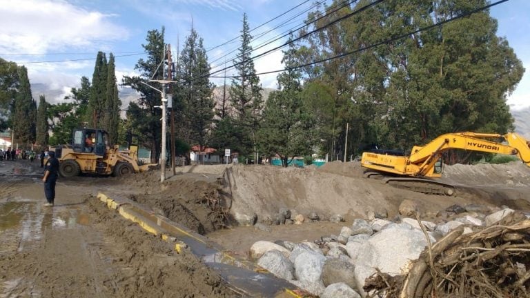
[[379, 297], [530, 297], [530, 219], [513, 212], [494, 226], [453, 230], [426, 248], [408, 275], [377, 274]]

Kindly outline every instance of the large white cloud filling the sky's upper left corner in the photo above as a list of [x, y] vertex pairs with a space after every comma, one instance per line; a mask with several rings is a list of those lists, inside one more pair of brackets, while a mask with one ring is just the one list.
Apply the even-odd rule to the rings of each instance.
[[[109, 21], [113, 14], [88, 11], [65, 1], [3, 0], [0, 52], [98, 50], [104, 41], [128, 38], [128, 30]], [[71, 48], [70, 48], [71, 49]]]

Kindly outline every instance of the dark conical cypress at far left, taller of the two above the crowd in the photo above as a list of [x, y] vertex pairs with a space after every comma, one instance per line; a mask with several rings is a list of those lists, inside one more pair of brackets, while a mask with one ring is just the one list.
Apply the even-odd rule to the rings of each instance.
[[26, 66], [19, 68], [20, 86], [14, 99], [11, 123], [14, 130], [14, 141], [22, 146], [35, 142], [35, 101], [31, 95], [30, 80]]

